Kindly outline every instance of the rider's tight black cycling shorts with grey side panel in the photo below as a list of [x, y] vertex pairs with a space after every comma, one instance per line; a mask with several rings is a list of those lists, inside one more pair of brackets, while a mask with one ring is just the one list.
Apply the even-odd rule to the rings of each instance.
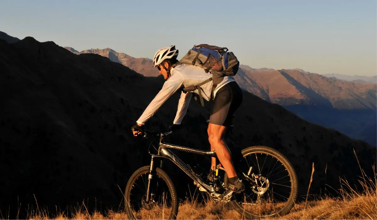
[[222, 86], [216, 93], [211, 108], [210, 123], [229, 127], [233, 114], [241, 105], [242, 91], [236, 82]]

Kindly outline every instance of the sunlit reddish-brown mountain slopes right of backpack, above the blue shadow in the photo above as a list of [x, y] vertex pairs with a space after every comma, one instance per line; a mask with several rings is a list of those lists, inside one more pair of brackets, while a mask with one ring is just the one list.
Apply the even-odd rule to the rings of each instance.
[[[262, 89], [268, 94], [268, 100], [283, 106], [305, 104], [336, 109], [377, 109], [377, 86], [373, 83], [344, 82], [297, 69], [265, 72], [244, 69], [235, 78], [247, 91], [254, 94], [254, 90], [259, 93]], [[255, 87], [255, 83], [259, 87]]]

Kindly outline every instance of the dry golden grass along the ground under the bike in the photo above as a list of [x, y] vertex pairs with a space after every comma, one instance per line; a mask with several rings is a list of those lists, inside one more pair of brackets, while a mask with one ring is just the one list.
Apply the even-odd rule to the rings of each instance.
[[[362, 173], [359, 180], [360, 186], [362, 186], [361, 191], [356, 191], [351, 188], [346, 180], [340, 179], [342, 183], [339, 190], [340, 196], [335, 198], [322, 197], [308, 202], [296, 203], [287, 215], [270, 219], [377, 219], [377, 173], [374, 166], [373, 169], [374, 177], [370, 178], [360, 168]], [[180, 202], [177, 219], [244, 219], [244, 216], [233, 210], [229, 203], [217, 203], [208, 199], [204, 203], [198, 203], [197, 197], [194, 197], [195, 195], [190, 196], [187, 200]], [[106, 215], [97, 211], [89, 214], [84, 202], [78, 208], [71, 209], [70, 215], [68, 215], [68, 212], [67, 210], [57, 212], [59, 214], [51, 218], [48, 215], [48, 210], [41, 210], [37, 203], [36, 211], [30, 212], [26, 218], [128, 219], [124, 211], [114, 212], [109, 210]], [[167, 208], [154, 207], [150, 211], [141, 210], [136, 214], [136, 217], [161, 219], [161, 216], [166, 216], [167, 212], [169, 212]]]

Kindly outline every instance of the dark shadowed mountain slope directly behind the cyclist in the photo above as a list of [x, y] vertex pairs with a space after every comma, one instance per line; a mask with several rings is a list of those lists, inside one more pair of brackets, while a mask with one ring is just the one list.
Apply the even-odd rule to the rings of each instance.
[[[2, 213], [15, 218], [20, 212], [23, 218], [26, 206], [34, 204], [35, 209], [36, 201], [51, 214], [83, 201], [89, 210], [118, 209], [128, 178], [148, 165], [147, 152], [153, 148], [148, 140], [133, 137], [130, 128], [164, 80], [145, 77], [101, 55], [77, 55], [32, 37], [11, 44], [0, 40], [0, 64]], [[179, 92], [173, 94], [146, 128], [171, 125], [179, 96]], [[226, 136], [232, 155], [255, 145], [282, 152], [299, 178], [298, 200], [307, 195], [312, 163], [310, 194], [336, 194], [333, 189], [339, 189], [339, 177], [351, 186], [357, 184], [360, 170], [354, 151], [366, 174], [374, 174], [374, 146], [303, 120], [245, 90], [243, 97], [233, 132]], [[210, 104], [205, 103], [208, 108]], [[166, 141], [209, 150], [205, 122], [209, 114], [209, 109], [192, 100], [183, 128]], [[209, 158], [177, 155], [209, 168]], [[238, 161], [234, 163], [237, 166]], [[167, 162], [164, 168], [183, 198], [195, 186], [171, 165]]]

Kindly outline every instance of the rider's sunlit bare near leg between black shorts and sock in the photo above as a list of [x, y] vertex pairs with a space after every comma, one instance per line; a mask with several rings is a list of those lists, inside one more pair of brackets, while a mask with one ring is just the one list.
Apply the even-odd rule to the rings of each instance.
[[[208, 125], [208, 141], [211, 144], [211, 150], [216, 151], [216, 155], [220, 160], [220, 163], [227, 172], [229, 178], [237, 176], [234, 171], [233, 162], [231, 160], [231, 153], [228, 146], [224, 142], [224, 134], [226, 131], [225, 126], [209, 124]], [[216, 160], [212, 158], [211, 166], [215, 166]]]

